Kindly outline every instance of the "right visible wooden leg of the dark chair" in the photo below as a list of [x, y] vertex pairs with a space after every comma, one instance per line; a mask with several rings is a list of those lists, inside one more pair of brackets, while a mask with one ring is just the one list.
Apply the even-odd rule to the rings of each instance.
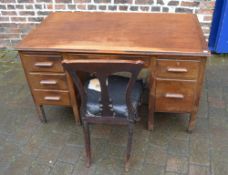
[[127, 153], [126, 153], [126, 162], [125, 162], [125, 171], [129, 169], [129, 159], [131, 156], [131, 149], [132, 149], [132, 137], [133, 137], [133, 123], [128, 125], [128, 142], [127, 142]]

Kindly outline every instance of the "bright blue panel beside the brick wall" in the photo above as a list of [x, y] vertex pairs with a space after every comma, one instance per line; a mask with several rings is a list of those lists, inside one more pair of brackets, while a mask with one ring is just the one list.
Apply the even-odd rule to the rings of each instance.
[[216, 1], [209, 49], [217, 53], [228, 53], [228, 0]]

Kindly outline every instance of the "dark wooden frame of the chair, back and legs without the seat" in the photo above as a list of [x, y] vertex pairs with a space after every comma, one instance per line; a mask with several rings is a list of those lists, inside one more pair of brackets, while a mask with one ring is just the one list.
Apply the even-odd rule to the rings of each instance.
[[[128, 143], [127, 143], [127, 153], [125, 170], [128, 171], [129, 159], [131, 153], [132, 145], [132, 134], [133, 134], [133, 123], [135, 122], [137, 112], [132, 106], [131, 93], [133, 85], [137, 79], [140, 70], [144, 66], [143, 61], [129, 61], [129, 60], [64, 60], [62, 62], [63, 67], [71, 75], [75, 86], [78, 89], [81, 98], [81, 119], [83, 123], [83, 131], [85, 138], [85, 148], [86, 148], [86, 165], [87, 167], [91, 164], [91, 149], [90, 149], [90, 133], [89, 124], [90, 123], [100, 123], [100, 124], [121, 124], [128, 125]], [[81, 82], [77, 71], [88, 72], [95, 75], [101, 86], [101, 99], [100, 99], [100, 116], [91, 116], [86, 111], [87, 104], [87, 93], [84, 89], [84, 85]], [[109, 96], [108, 86], [106, 80], [108, 76], [117, 72], [129, 72], [131, 77], [126, 89], [126, 105], [128, 115], [126, 118], [120, 118], [115, 116], [112, 109], [112, 99]]]

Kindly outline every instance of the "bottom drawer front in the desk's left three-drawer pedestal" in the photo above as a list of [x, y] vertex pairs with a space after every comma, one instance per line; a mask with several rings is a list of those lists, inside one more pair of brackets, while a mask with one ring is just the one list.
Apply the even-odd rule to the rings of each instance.
[[33, 94], [38, 104], [70, 105], [70, 94], [68, 91], [33, 90]]

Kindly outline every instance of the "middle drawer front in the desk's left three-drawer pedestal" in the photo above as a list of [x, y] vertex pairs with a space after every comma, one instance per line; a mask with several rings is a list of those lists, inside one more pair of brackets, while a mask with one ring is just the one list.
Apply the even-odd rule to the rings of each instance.
[[28, 73], [32, 89], [66, 90], [67, 80], [64, 73]]

